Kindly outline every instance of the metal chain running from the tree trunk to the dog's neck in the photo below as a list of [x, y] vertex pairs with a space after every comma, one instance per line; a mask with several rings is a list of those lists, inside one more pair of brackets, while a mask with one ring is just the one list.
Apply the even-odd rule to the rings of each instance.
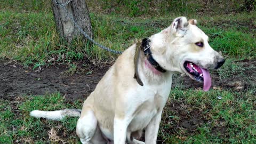
[[69, 0], [69, 1], [67, 1], [65, 4], [61, 4], [61, 3], [59, 3], [57, 0], [52, 0], [53, 3], [55, 3], [56, 5], [59, 5], [60, 7], [62, 7], [63, 10], [66, 11], [68, 17], [70, 18], [71, 21], [73, 21], [73, 23], [74, 23], [74, 25], [76, 26], [76, 28], [77, 28], [79, 31], [81, 31], [81, 33], [82, 33], [87, 39], [89, 39], [92, 43], [94, 43], [95, 45], [98, 45], [99, 47], [101, 47], [101, 49], [104, 49], [104, 50], [109, 51], [109, 52], [113, 52], [113, 53], [117, 53], [117, 54], [123, 53], [123, 52], [121, 52], [121, 51], [116, 51], [116, 50], [109, 49], [108, 47], [103, 46], [103, 45], [101, 45], [101, 44], [98, 43], [98, 42], [95, 42], [89, 35], [87, 35], [87, 34], [85, 33], [85, 31], [84, 31], [81, 27], [78, 26], [78, 24], [76, 23], [76, 21], [74, 20], [74, 18], [71, 17], [71, 15], [68, 13], [68, 10], [66, 9], [66, 5], [67, 5], [68, 3], [70, 3], [71, 1], [72, 1], [72, 0]]

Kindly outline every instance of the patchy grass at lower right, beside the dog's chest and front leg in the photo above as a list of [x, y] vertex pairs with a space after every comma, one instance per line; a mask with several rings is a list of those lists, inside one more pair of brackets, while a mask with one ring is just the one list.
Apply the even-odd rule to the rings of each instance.
[[[255, 91], [255, 90], [254, 90]], [[218, 95], [222, 99], [217, 99]], [[256, 126], [252, 91], [171, 91], [159, 133], [166, 143], [255, 143]], [[178, 103], [173, 110], [173, 103]], [[169, 109], [171, 108], [171, 110]], [[200, 123], [192, 130], [182, 119]]]

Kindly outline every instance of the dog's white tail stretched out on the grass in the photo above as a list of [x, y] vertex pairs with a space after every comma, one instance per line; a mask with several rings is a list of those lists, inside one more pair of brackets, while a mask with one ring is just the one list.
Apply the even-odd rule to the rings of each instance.
[[80, 109], [63, 109], [63, 110], [55, 110], [55, 111], [41, 111], [41, 110], [33, 110], [30, 112], [30, 116], [36, 118], [46, 118], [55, 121], [59, 121], [66, 116], [70, 117], [79, 117], [81, 115]]

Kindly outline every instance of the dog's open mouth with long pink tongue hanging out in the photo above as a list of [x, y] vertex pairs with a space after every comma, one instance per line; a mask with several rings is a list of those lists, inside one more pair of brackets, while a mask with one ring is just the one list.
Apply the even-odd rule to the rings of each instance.
[[212, 85], [210, 73], [207, 69], [201, 68], [193, 62], [185, 61], [183, 63], [184, 68], [187, 70], [187, 74], [194, 78], [198, 82], [204, 82], [204, 91], [208, 91]]

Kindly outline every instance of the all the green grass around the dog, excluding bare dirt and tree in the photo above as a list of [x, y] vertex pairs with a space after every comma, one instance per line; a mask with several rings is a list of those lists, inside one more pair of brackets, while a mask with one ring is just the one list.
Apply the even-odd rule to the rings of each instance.
[[[217, 73], [227, 78], [244, 77], [243, 73], [253, 67], [244, 68], [234, 61], [256, 58], [256, 13], [242, 12], [243, 2], [213, 1], [208, 6], [200, 0], [87, 4], [95, 41], [118, 51], [136, 38], [161, 31], [175, 17], [197, 19], [213, 49], [225, 55], [226, 63]], [[17, 61], [34, 69], [64, 64], [69, 66], [66, 72], [74, 74], [74, 61], [113, 62], [118, 57], [81, 41], [63, 42], [55, 30], [50, 0], [9, 0], [1, 3], [0, 10], [0, 60]], [[158, 139], [164, 143], [256, 143], [255, 91], [216, 89], [205, 93], [176, 87], [164, 109]], [[66, 101], [58, 92], [0, 99], [0, 143], [78, 143], [77, 118], [46, 121], [30, 117], [29, 111], [81, 108], [82, 103]]]

